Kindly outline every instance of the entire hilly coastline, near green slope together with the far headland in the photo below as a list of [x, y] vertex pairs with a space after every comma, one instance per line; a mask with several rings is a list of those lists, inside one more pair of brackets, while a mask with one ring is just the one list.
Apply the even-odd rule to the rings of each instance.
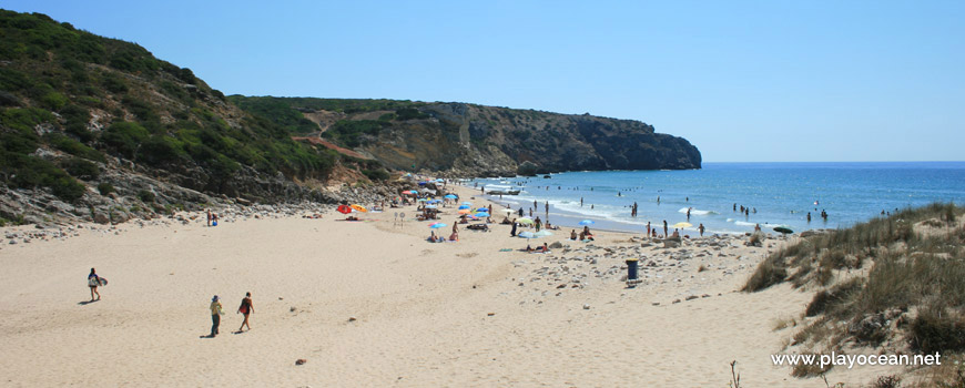
[[[464, 103], [226, 98], [144, 48], [0, 10], [0, 224], [215, 202], [337, 202], [386, 169], [450, 176], [699, 169], [641, 122]], [[369, 193], [369, 194], [372, 194]], [[366, 194], [368, 195], [368, 194]]]

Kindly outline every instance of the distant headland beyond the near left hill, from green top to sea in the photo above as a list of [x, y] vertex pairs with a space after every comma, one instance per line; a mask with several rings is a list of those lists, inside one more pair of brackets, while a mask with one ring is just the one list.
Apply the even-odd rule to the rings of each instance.
[[466, 103], [228, 99], [293, 133], [321, 133], [400, 170], [479, 176], [701, 165], [687, 140], [632, 120]]

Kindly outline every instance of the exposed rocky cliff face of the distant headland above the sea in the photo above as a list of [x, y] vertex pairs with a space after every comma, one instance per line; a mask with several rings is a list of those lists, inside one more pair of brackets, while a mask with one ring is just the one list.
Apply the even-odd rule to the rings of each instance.
[[395, 169], [460, 176], [515, 175], [524, 163], [530, 173], [701, 166], [700, 151], [685, 139], [639, 121], [465, 103], [417, 109], [427, 116], [392, 121], [360, 151]]

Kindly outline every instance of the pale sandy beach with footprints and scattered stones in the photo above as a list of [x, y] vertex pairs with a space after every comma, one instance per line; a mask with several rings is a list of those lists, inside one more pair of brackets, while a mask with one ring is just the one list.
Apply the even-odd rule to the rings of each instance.
[[[451, 225], [456, 210], [444, 212]], [[796, 330], [775, 323], [801, 320], [811, 294], [786, 285], [737, 292], [784, 243], [776, 237], [763, 247], [725, 236], [663, 248], [624, 233], [570, 242], [565, 229], [531, 242], [563, 248], [529, 254], [519, 252], [526, 239], [498, 224], [460, 227], [458, 243], [428, 243], [414, 206], [363, 213], [363, 222], [331, 210], [303, 214], [311, 212], [228, 213], [217, 227], [203, 216], [64, 226], [29, 243], [24, 234], [37, 231], [6, 228], [0, 382], [722, 387], [737, 360], [742, 386], [823, 386], [770, 358]], [[181, 214], [191, 215], [199, 214]], [[642, 266], [636, 288], [623, 282], [628, 257]], [[94, 303], [91, 267], [110, 280]], [[252, 329], [234, 334], [246, 292]], [[206, 338], [213, 295], [226, 315], [221, 335]], [[836, 368], [827, 380], [865, 384], [885, 371]]]

